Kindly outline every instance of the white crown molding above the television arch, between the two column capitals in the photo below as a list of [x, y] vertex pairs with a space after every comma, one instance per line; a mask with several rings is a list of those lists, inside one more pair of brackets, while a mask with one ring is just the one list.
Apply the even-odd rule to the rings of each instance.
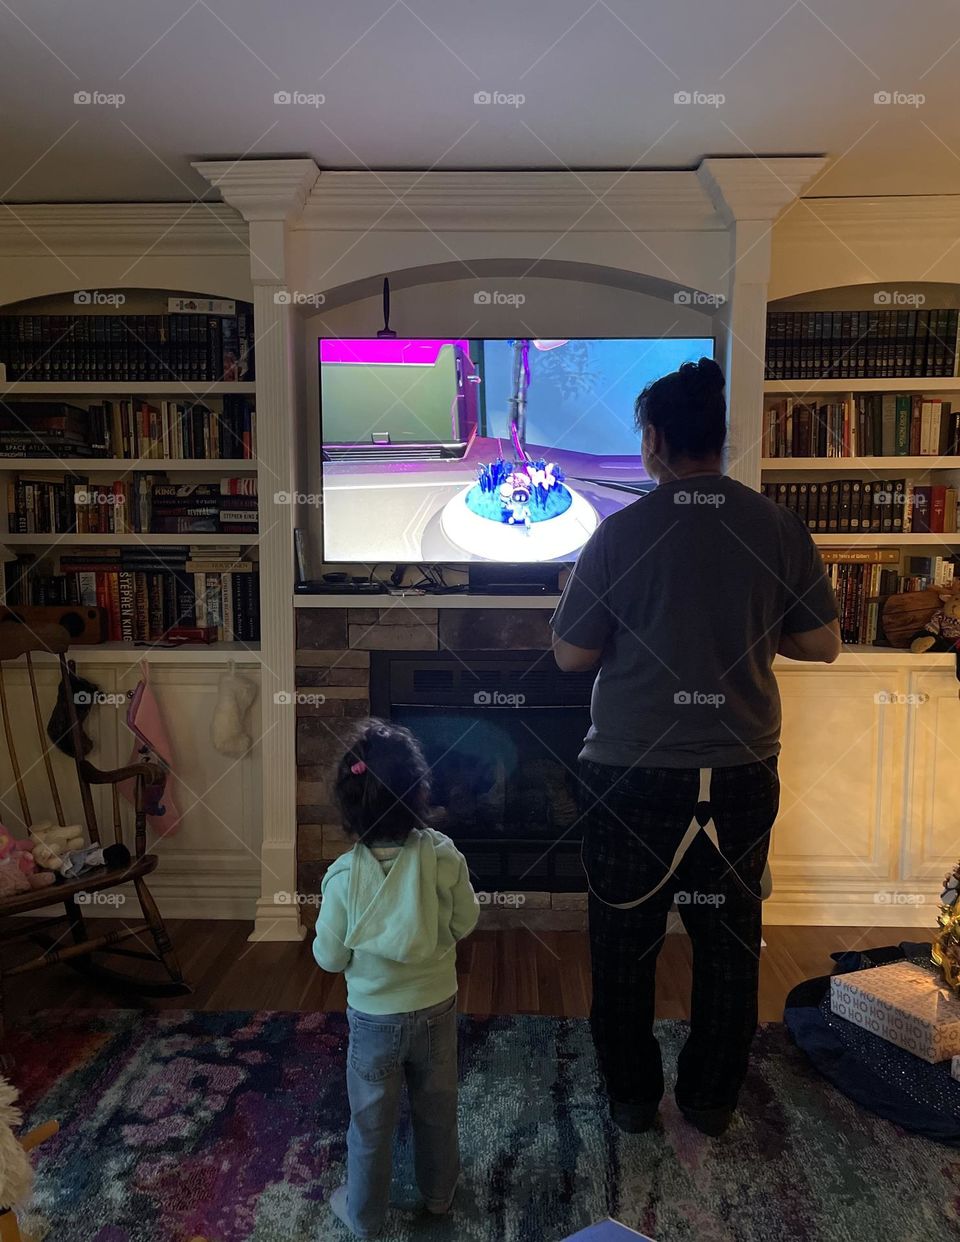
[[693, 171], [322, 173], [299, 230], [723, 230]]

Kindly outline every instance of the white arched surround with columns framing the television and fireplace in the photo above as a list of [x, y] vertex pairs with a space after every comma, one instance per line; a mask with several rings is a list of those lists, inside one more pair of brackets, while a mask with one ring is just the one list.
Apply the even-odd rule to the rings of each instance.
[[[520, 281], [569, 272], [622, 287], [635, 278], [666, 303], [710, 294], [728, 373], [731, 473], [759, 481], [753, 441], [771, 229], [823, 163], [724, 158], [697, 170], [626, 173], [327, 173], [309, 159], [195, 164], [250, 230], [261, 453], [277, 491], [317, 491], [303, 477], [299, 448], [307, 445], [309, 456], [310, 430], [297, 411], [312, 405], [310, 355], [298, 353], [298, 338], [318, 304], [366, 298], [384, 276], [402, 273], [410, 286], [422, 273], [431, 284], [437, 272], [472, 279], [492, 263]], [[261, 538], [272, 568], [262, 615], [265, 822], [255, 939], [303, 934], [299, 905], [279, 895], [296, 874], [297, 722], [271, 694], [293, 688], [292, 530], [301, 524], [309, 525], [287, 507]]]

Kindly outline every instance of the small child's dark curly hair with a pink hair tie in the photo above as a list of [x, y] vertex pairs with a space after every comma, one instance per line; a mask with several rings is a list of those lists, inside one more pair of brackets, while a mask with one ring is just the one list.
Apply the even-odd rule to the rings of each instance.
[[334, 797], [344, 830], [366, 845], [402, 845], [427, 818], [428, 777], [423, 751], [410, 729], [364, 720], [337, 766]]

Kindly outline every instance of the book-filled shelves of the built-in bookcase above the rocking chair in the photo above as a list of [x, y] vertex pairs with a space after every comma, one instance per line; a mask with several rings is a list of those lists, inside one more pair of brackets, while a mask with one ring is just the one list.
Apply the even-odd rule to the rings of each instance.
[[4, 601], [103, 609], [117, 658], [174, 627], [216, 636], [204, 658], [255, 651], [252, 308], [84, 297], [0, 309]]

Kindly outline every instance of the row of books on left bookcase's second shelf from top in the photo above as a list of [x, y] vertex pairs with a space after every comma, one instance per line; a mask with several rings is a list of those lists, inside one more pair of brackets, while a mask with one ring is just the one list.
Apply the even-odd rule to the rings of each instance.
[[138, 397], [98, 401], [6, 401], [0, 406], [0, 457], [123, 457], [246, 460], [257, 455], [250, 397], [229, 395], [220, 409], [202, 401]]

